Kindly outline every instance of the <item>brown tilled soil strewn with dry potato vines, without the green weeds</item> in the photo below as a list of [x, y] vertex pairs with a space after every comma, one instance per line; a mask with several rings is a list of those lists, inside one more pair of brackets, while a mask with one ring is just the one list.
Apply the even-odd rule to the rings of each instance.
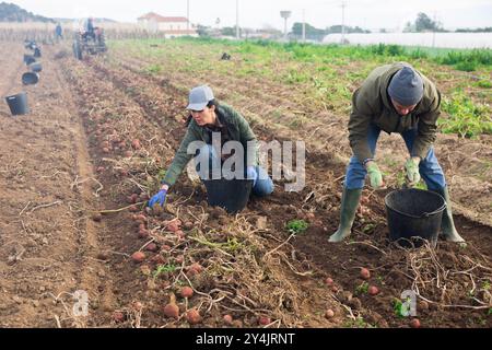
[[[5, 51], [8, 45], [2, 47]], [[30, 115], [11, 117], [7, 106], [0, 109], [0, 326], [189, 327], [184, 314], [197, 307], [203, 319], [191, 327], [227, 326], [224, 314], [233, 316], [233, 327], [259, 327], [261, 316], [270, 318], [270, 327], [408, 327], [409, 319], [394, 312], [395, 299], [408, 289], [422, 296], [418, 317], [423, 326], [492, 326], [492, 229], [472, 220], [490, 222], [483, 219], [490, 182], [461, 176], [490, 159], [483, 153], [490, 150], [487, 143], [464, 144], [462, 152], [479, 152], [480, 159], [460, 163], [458, 180], [447, 174], [468, 213], [456, 217], [467, 247], [443, 241], [435, 250], [390, 245], [385, 192], [368, 190], [351, 240], [329, 244], [347, 160], [342, 119], [300, 133], [290, 119], [258, 117], [260, 108], [288, 105], [289, 96], [278, 94], [265, 105], [257, 82], [248, 104], [238, 100], [237, 108], [262, 140], [311, 135], [305, 189], [285, 192], [277, 183], [272, 196], [253, 198], [241, 214], [227, 217], [208, 208], [202, 186], [183, 175], [166, 210], [149, 212], [144, 201], [186, 130], [184, 86], [200, 78], [172, 70], [153, 78], [136, 68], [138, 61], [117, 55], [78, 62], [61, 50], [45, 48], [40, 82], [26, 89]], [[21, 90], [23, 49], [12, 44], [4, 54], [0, 67], [7, 79], [0, 91], [8, 95]], [[227, 91], [238, 86], [231, 80], [218, 86], [218, 94], [227, 101]], [[271, 89], [267, 93], [274, 95]], [[314, 140], [315, 133], [325, 141]], [[385, 148], [401, 143], [383, 142]], [[460, 160], [450, 152], [457, 142], [438, 140], [440, 152], [448, 155], [446, 168]], [[130, 199], [132, 194], [137, 198]], [[134, 214], [145, 218], [136, 221]], [[183, 221], [183, 236], [168, 229], [175, 218]], [[306, 220], [307, 231], [290, 236], [285, 223], [293, 219]], [[151, 244], [156, 252], [148, 250]], [[147, 256], [142, 264], [131, 259], [138, 250]], [[190, 271], [194, 264], [203, 271]], [[372, 275], [367, 285], [360, 278], [362, 267]], [[326, 285], [328, 277], [335, 287]], [[370, 295], [364, 289], [370, 284], [380, 292]], [[189, 300], [179, 295], [183, 285], [195, 290]], [[89, 296], [86, 317], [73, 314], [78, 290]], [[164, 316], [173, 300], [178, 319]], [[328, 308], [335, 312], [329, 319]]]

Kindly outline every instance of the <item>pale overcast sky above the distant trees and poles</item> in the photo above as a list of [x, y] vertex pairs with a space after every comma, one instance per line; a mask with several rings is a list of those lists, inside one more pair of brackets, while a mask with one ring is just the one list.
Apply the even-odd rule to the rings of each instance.
[[[7, 0], [27, 11], [49, 18], [93, 15], [120, 22], [136, 22], [153, 11], [162, 15], [186, 16], [187, 0]], [[292, 11], [289, 27], [303, 21], [325, 28], [341, 24], [341, 0], [237, 0], [239, 26], [260, 28], [270, 25], [283, 30], [281, 10]], [[445, 28], [492, 26], [492, 0], [345, 0], [345, 24], [364, 28], [402, 28], [424, 12]], [[190, 21], [204, 25], [233, 26], [236, 0], [189, 0]]]

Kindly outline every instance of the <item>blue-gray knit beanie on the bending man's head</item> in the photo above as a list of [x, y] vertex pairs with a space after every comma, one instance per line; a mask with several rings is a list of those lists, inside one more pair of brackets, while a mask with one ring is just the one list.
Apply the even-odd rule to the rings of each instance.
[[417, 105], [423, 96], [422, 77], [413, 68], [405, 66], [393, 77], [388, 94], [402, 106]]

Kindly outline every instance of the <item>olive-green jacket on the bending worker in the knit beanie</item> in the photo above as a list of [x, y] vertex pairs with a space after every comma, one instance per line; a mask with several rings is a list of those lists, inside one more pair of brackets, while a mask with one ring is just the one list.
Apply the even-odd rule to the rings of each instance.
[[354, 155], [361, 163], [374, 158], [367, 143], [371, 124], [388, 133], [401, 133], [418, 127], [418, 136], [411, 150], [412, 156], [424, 159], [435, 141], [436, 121], [441, 114], [441, 93], [427, 78], [420, 73], [424, 83], [424, 93], [414, 110], [402, 117], [393, 107], [387, 89], [393, 75], [403, 65], [408, 63], [398, 62], [376, 68], [352, 96], [349, 140]]

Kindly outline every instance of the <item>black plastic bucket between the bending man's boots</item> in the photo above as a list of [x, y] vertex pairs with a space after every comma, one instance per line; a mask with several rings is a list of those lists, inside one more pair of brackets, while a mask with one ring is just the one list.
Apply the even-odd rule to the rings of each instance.
[[391, 241], [399, 241], [400, 245], [407, 247], [412, 244], [419, 247], [423, 240], [432, 244], [437, 242], [443, 211], [446, 209], [442, 196], [415, 188], [400, 189], [387, 195], [385, 205]]

